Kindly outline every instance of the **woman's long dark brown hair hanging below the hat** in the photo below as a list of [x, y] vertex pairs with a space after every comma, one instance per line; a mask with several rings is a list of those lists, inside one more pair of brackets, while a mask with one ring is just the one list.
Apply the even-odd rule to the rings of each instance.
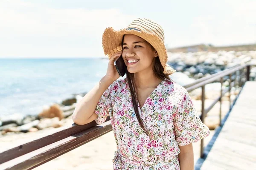
[[[124, 41], [124, 37], [125, 36], [123, 36], [123, 38], [122, 38], [122, 44]], [[149, 45], [151, 45], [151, 44], [149, 44]], [[152, 51], [155, 50], [152, 45], [151, 45], [151, 49], [152, 49]], [[136, 94], [137, 86], [136, 86], [135, 79], [134, 79], [134, 73], [129, 73], [126, 66], [125, 66], [125, 71], [126, 71], [127, 82], [128, 82], [128, 85], [129, 85], [129, 88], [131, 91], [131, 100], [132, 100], [132, 104], [134, 107], [136, 117], [138, 119], [140, 126], [143, 128], [143, 131], [148, 135], [148, 131], [147, 131], [145, 125], [143, 124], [143, 122], [140, 118], [140, 114], [139, 114], [139, 109], [138, 109], [138, 104], [137, 104], [137, 101], [139, 101], [139, 99], [138, 99], [138, 95]], [[171, 80], [167, 74], [163, 74], [164, 68], [161, 65], [159, 57], [154, 57], [153, 71], [154, 71], [155, 77], [157, 77], [161, 80], [164, 80], [165, 78]]]

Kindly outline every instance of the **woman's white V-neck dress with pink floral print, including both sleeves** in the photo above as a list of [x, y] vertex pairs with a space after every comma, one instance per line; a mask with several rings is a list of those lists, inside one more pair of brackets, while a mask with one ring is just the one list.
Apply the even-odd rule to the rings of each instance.
[[95, 109], [100, 125], [107, 116], [117, 150], [114, 170], [180, 170], [179, 146], [207, 137], [204, 125], [185, 88], [164, 79], [148, 96], [140, 117], [149, 136], [137, 120], [127, 79], [118, 79], [104, 92]]

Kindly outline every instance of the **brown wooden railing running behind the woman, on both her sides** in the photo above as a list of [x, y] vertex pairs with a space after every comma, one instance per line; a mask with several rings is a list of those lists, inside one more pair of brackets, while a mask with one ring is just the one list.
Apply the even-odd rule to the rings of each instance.
[[[226, 92], [230, 92], [231, 88], [239, 85], [242, 87], [245, 81], [249, 80], [251, 65], [240, 65], [227, 70], [212, 74], [209, 77], [204, 77], [195, 82], [184, 86], [188, 92], [197, 88], [202, 88], [202, 110], [201, 120], [204, 122], [204, 117], [212, 109], [212, 107], [220, 102]], [[233, 76], [234, 75], [234, 76]], [[230, 80], [229, 88], [226, 91], [222, 90], [223, 82]], [[212, 82], [221, 82], [220, 96], [212, 102], [209, 108], [205, 108], [205, 85]], [[230, 101], [230, 109], [232, 103]], [[220, 107], [220, 122], [221, 122], [221, 107]], [[97, 125], [96, 122], [90, 122], [86, 125], [72, 124], [64, 127], [64, 129], [44, 136], [43, 138], [21, 144], [12, 149], [0, 153], [0, 170], [31, 170], [44, 164], [64, 153], [69, 152], [99, 136], [104, 135], [112, 130], [111, 121], [108, 117], [106, 122]], [[204, 155], [204, 140], [201, 140], [201, 157]]]

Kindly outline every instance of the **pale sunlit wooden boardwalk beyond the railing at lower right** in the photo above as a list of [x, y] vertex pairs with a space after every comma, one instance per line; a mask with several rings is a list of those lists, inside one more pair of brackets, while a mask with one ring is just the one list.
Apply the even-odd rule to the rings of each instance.
[[[256, 170], [256, 82], [246, 82], [195, 170]], [[199, 165], [199, 166], [198, 166]]]

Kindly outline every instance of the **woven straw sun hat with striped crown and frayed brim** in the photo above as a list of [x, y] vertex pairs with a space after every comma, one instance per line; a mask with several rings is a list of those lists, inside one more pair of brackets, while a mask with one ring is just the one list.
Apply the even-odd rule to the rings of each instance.
[[158, 53], [161, 65], [164, 68], [164, 74], [170, 75], [175, 72], [175, 70], [167, 64], [168, 56], [164, 45], [163, 28], [148, 19], [137, 18], [127, 28], [123, 28], [119, 31], [114, 30], [112, 27], [105, 29], [102, 35], [102, 47], [105, 55], [108, 54], [109, 59], [116, 52], [122, 51], [122, 37], [125, 34], [137, 35], [154, 47]]

